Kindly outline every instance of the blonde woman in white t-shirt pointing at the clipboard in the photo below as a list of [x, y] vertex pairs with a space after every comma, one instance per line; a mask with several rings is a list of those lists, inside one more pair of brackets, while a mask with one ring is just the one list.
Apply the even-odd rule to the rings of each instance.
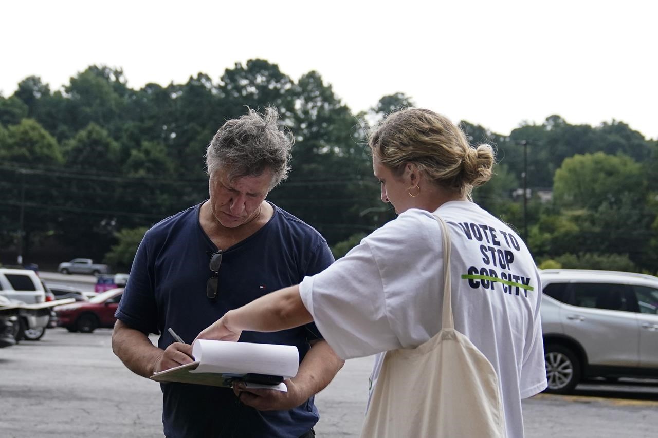
[[[399, 216], [326, 270], [231, 310], [199, 338], [234, 341], [243, 330], [315, 321], [343, 359], [417, 349], [442, 329], [443, 280], [449, 274], [454, 327], [495, 372], [492, 394], [503, 406], [499, 435], [522, 437], [521, 399], [546, 387], [541, 283], [517, 233], [470, 201], [472, 188], [492, 176], [492, 148], [471, 147], [457, 126], [425, 109], [390, 114], [372, 130], [368, 145], [382, 201]], [[443, 267], [446, 250], [449, 272]], [[374, 391], [381, 385], [386, 394], [390, 377], [377, 381], [382, 357], [371, 379]], [[422, 421], [434, 409], [441, 408], [422, 406], [407, 422]]]

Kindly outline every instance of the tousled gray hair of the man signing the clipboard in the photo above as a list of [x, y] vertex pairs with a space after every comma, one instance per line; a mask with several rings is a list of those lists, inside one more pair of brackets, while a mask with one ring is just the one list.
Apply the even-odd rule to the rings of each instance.
[[223, 170], [228, 180], [234, 181], [243, 176], [260, 176], [270, 169], [270, 189], [288, 178], [294, 138], [288, 128], [278, 128], [278, 120], [276, 109], [269, 107], [265, 114], [249, 109], [247, 114], [228, 120], [206, 149], [207, 173]]

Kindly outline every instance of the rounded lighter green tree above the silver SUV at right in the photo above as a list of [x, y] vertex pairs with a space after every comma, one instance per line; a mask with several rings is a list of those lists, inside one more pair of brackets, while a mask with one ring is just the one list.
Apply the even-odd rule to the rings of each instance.
[[635, 266], [649, 268], [649, 225], [655, 215], [647, 209], [645, 183], [642, 166], [625, 155], [597, 152], [565, 159], [555, 172], [557, 210], [534, 228], [532, 248], [553, 258], [622, 252]]

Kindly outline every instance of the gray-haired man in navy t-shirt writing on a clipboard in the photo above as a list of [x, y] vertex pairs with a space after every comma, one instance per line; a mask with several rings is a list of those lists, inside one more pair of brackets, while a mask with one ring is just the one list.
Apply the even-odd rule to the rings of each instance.
[[[190, 363], [186, 342], [224, 313], [299, 283], [334, 261], [311, 226], [265, 201], [288, 175], [291, 135], [278, 114], [254, 110], [229, 120], [206, 152], [209, 199], [146, 232], [135, 256], [112, 336], [114, 353], [136, 374]], [[159, 334], [158, 347], [148, 333]], [[164, 435], [313, 437], [313, 395], [343, 365], [315, 324], [275, 333], [244, 333], [243, 342], [295, 345], [301, 362], [288, 392], [162, 383]]]

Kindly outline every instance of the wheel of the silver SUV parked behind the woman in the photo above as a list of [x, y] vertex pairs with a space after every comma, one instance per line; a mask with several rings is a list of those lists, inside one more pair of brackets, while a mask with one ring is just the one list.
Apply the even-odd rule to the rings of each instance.
[[568, 394], [580, 381], [580, 360], [569, 348], [558, 344], [544, 346], [547, 393]]

